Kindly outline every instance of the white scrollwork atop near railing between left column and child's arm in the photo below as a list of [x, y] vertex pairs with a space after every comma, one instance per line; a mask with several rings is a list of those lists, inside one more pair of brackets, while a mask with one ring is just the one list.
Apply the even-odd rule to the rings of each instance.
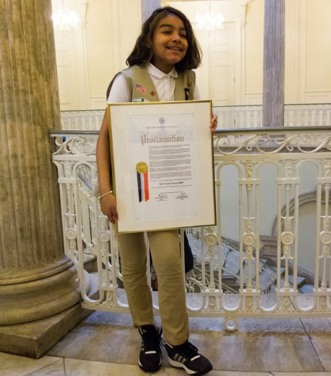
[[97, 137], [56, 137], [55, 145], [57, 150], [54, 155], [95, 155], [97, 149]]

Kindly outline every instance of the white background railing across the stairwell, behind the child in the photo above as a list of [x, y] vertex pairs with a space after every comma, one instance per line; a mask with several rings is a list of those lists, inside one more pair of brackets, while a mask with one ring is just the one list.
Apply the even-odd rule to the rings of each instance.
[[[262, 105], [214, 106], [218, 126], [223, 128], [262, 127]], [[104, 110], [61, 111], [62, 129], [99, 130]], [[331, 126], [331, 103], [285, 104], [285, 126]]]

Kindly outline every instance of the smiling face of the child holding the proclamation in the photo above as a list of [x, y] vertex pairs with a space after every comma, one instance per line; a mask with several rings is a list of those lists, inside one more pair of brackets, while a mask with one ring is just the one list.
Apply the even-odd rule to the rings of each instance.
[[151, 63], [164, 73], [169, 73], [174, 65], [186, 55], [188, 43], [183, 22], [175, 15], [160, 20], [154, 30]]

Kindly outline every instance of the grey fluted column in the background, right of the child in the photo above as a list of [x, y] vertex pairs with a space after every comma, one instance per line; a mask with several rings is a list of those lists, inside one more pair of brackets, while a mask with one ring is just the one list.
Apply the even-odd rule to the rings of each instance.
[[264, 0], [263, 99], [264, 127], [284, 125], [285, 0]]

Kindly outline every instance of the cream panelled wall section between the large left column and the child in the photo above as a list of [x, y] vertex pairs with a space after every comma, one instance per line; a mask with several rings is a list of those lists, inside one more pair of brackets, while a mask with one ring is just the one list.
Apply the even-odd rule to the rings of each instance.
[[[66, 0], [78, 29], [54, 30], [61, 110], [105, 108], [105, 94], [141, 29], [140, 0]], [[53, 12], [62, 0], [52, 0]]]

